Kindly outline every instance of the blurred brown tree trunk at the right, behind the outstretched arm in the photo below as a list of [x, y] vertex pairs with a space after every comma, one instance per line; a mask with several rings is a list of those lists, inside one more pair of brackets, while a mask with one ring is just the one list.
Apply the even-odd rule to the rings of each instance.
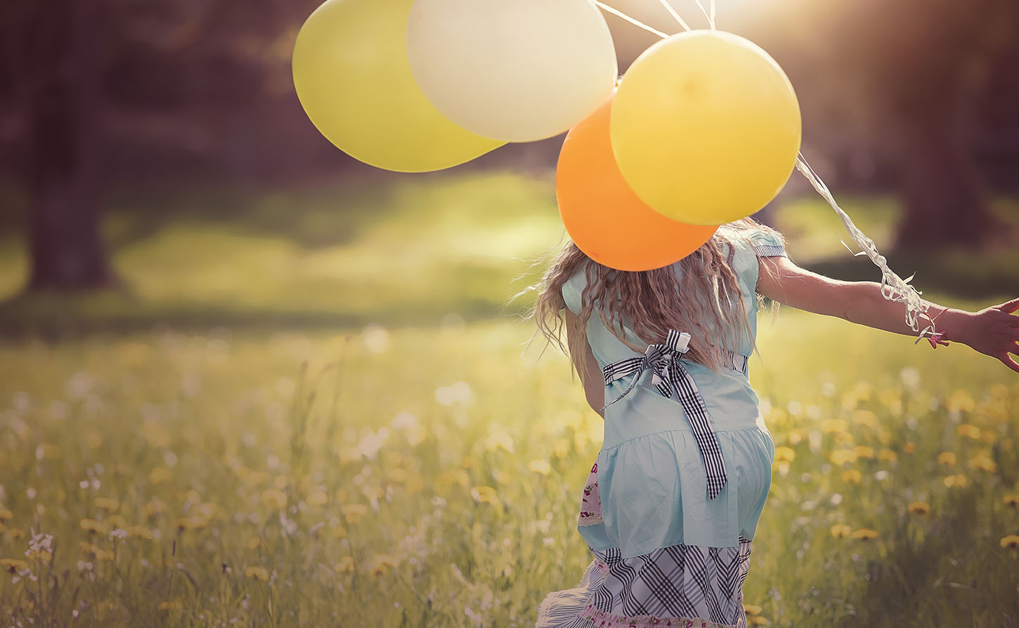
[[1019, 37], [1019, 3], [860, 0], [827, 31], [895, 156], [905, 209], [896, 247], [985, 242], [1003, 225], [974, 157], [979, 104], [996, 58]]

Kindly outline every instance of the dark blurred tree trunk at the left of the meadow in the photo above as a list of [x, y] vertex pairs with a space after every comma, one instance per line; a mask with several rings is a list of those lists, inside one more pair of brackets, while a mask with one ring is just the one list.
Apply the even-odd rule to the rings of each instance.
[[31, 165], [30, 290], [111, 285], [98, 207], [100, 82], [95, 0], [32, 11], [24, 42]]

